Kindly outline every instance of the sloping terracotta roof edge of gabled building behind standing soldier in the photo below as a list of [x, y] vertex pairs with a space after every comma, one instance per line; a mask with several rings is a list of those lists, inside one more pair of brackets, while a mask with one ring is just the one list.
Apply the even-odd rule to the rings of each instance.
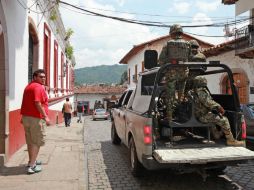
[[[189, 34], [183, 34], [182, 35], [183, 39], [185, 40], [192, 40], [192, 39], [195, 39], [198, 41], [199, 45], [202, 47], [202, 48], [209, 48], [209, 47], [212, 47], [213, 44], [210, 44], [208, 42], [204, 42], [200, 39], [197, 39]], [[156, 39], [153, 39], [153, 40], [150, 40], [150, 41], [147, 41], [147, 42], [144, 42], [142, 44], [139, 44], [139, 45], [135, 45], [121, 60], [119, 63], [122, 63], [122, 64], [127, 64], [129, 59], [134, 56], [135, 54], [137, 54], [139, 51], [141, 51], [142, 49], [144, 49], [147, 45], [150, 45], [150, 44], [153, 44], [155, 42], [159, 42], [159, 41], [162, 41], [162, 40], [165, 40], [165, 39], [171, 39], [170, 35], [166, 35], [166, 36], [162, 36], [162, 37], [159, 37], [159, 38], [156, 38]]]

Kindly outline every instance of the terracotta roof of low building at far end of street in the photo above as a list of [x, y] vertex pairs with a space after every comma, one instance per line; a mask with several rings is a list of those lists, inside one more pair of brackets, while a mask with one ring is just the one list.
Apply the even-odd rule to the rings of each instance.
[[126, 90], [123, 86], [82, 86], [74, 89], [75, 94], [122, 94]]

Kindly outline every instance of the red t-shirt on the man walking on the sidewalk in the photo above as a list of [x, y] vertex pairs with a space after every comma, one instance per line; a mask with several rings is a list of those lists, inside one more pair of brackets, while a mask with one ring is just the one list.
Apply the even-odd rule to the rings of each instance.
[[40, 83], [33, 81], [29, 83], [24, 90], [21, 115], [43, 118], [42, 114], [36, 108], [35, 102], [41, 102], [41, 105], [48, 115], [48, 96], [45, 88]]

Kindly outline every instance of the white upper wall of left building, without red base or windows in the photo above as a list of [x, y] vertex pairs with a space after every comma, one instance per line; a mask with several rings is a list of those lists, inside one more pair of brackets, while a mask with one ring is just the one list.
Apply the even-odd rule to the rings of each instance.
[[[17, 110], [21, 106], [22, 94], [25, 86], [28, 84], [28, 47], [29, 47], [29, 25], [28, 17], [32, 18], [37, 26], [39, 38], [38, 67], [43, 68], [44, 56], [44, 22], [47, 23], [51, 31], [51, 47], [50, 47], [50, 87], [54, 87], [54, 40], [57, 37], [50, 23], [42, 14], [30, 11], [28, 13], [18, 1], [1, 1], [7, 25], [8, 53], [9, 57], [9, 110]], [[26, 6], [32, 5], [33, 0], [28, 0]], [[25, 3], [24, 3], [25, 4]], [[42, 12], [40, 6], [33, 6], [32, 10], [39, 13]], [[52, 21], [50, 21], [52, 22]], [[62, 43], [58, 41], [58, 75], [61, 75], [61, 52]], [[64, 57], [64, 61], [66, 58]], [[70, 71], [70, 70], [69, 70]], [[70, 79], [69, 74], [69, 79]], [[66, 77], [64, 77], [64, 88], [66, 88]], [[58, 77], [58, 87], [61, 87], [61, 77]], [[60, 93], [61, 94], [61, 93]], [[52, 91], [51, 97], [54, 97]]]

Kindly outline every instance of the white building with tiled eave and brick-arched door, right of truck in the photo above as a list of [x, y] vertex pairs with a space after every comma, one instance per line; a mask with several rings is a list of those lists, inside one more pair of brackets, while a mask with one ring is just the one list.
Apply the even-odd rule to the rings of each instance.
[[[203, 53], [206, 55], [207, 61], [220, 61], [232, 70], [240, 103], [254, 102], [254, 59], [243, 59], [236, 55], [236, 43], [238, 43], [237, 40], [225, 42], [206, 49]], [[230, 91], [230, 88], [227, 89], [227, 78], [225, 76], [221, 75], [220, 78], [212, 80], [214, 83], [220, 84], [220, 89], [217, 89], [218, 92], [227, 93], [227, 91]]]

